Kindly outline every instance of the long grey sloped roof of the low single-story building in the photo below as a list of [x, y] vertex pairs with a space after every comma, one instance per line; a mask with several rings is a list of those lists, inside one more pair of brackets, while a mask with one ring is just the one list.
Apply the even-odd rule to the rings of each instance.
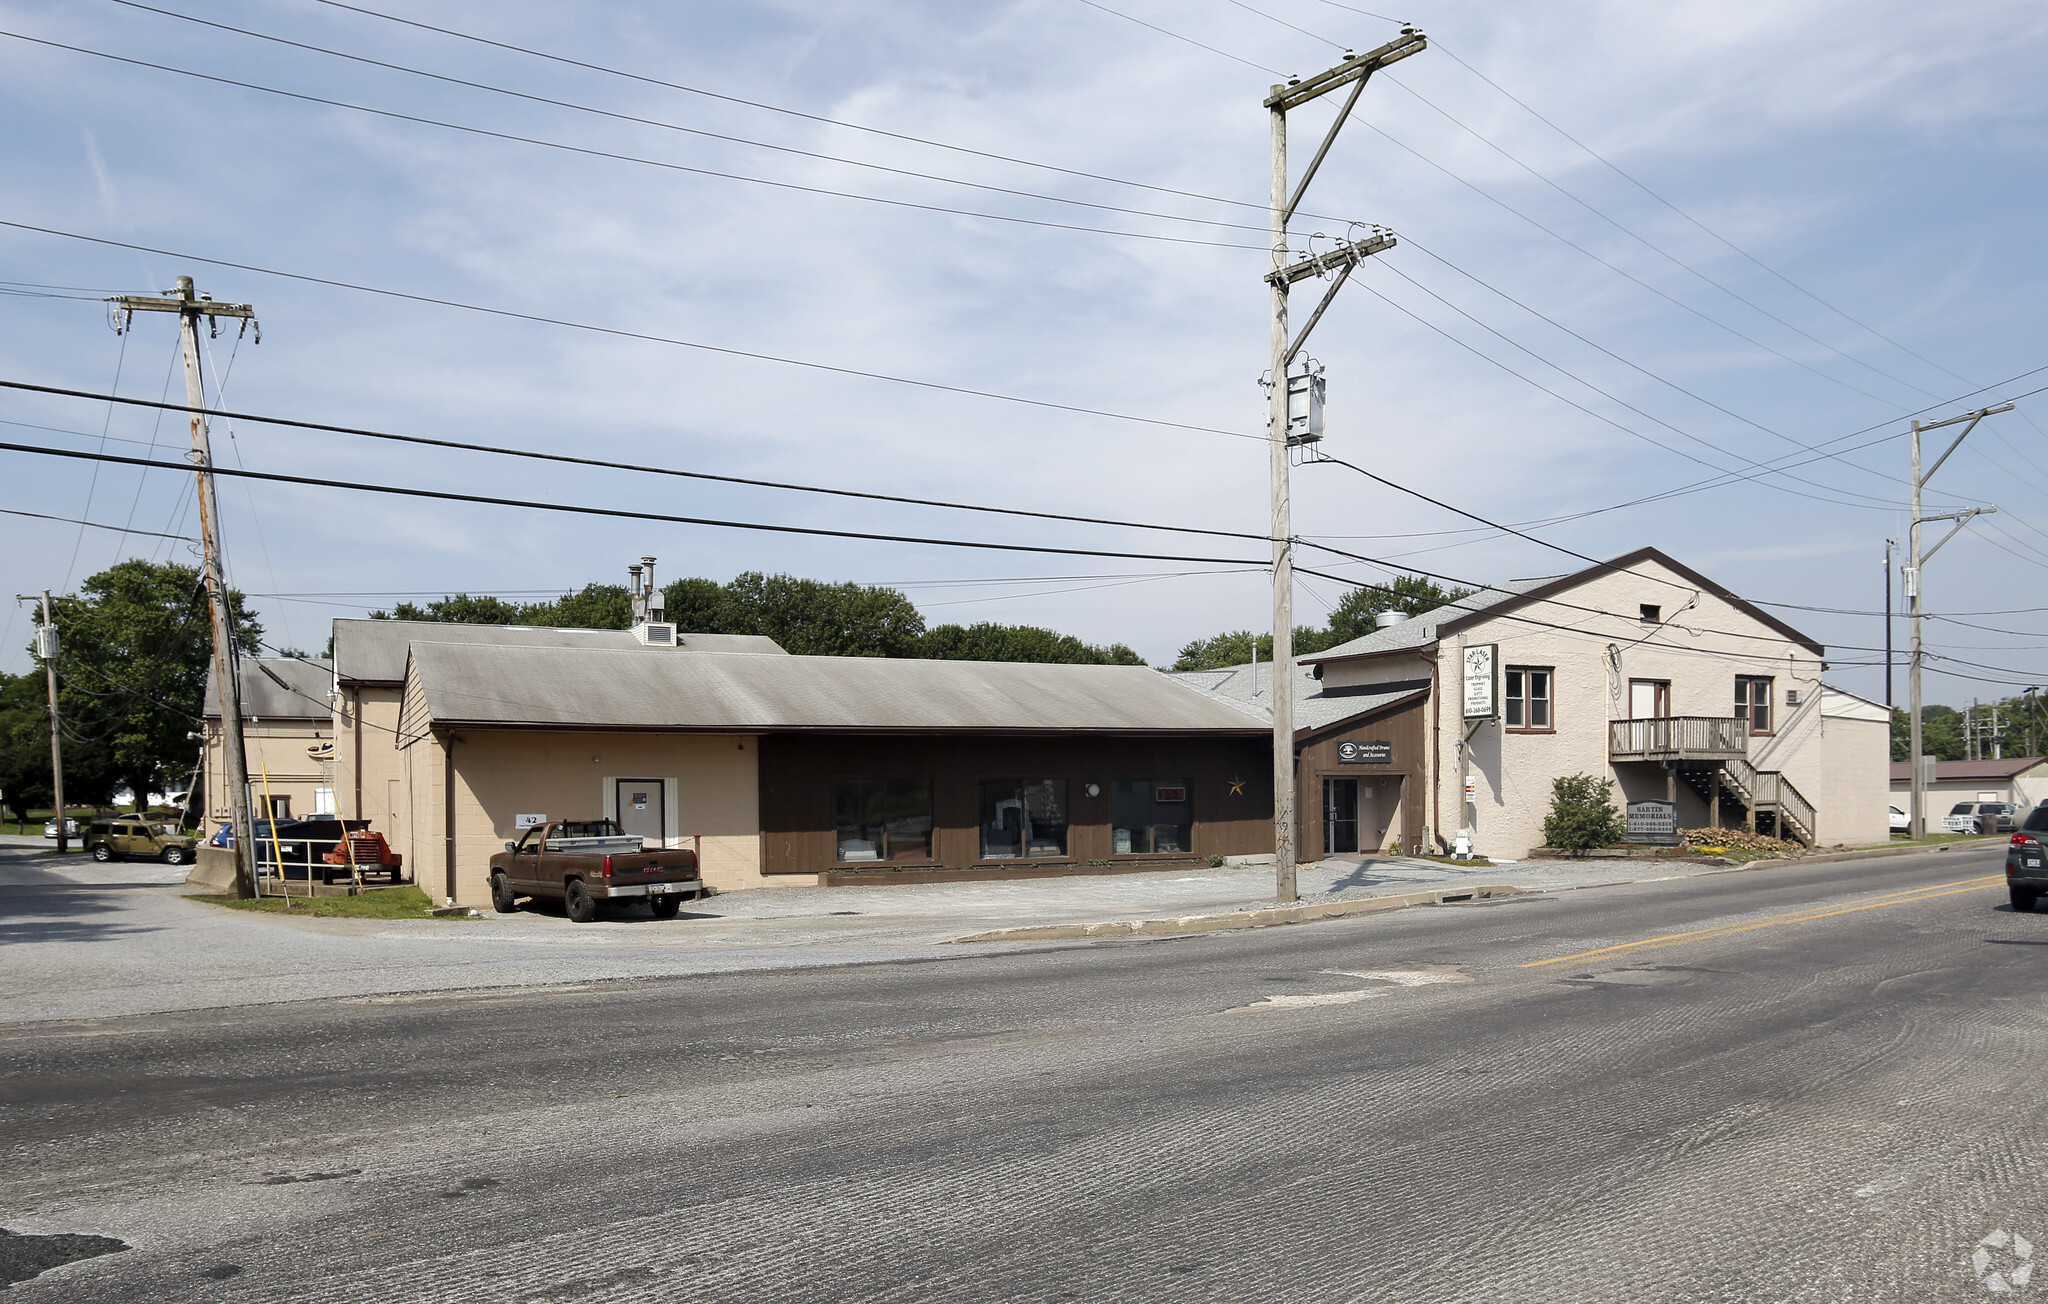
[[[760, 657], [412, 645], [401, 733], [428, 725], [1260, 733], [1257, 719], [1145, 665]], [[403, 745], [403, 741], [401, 741]]]

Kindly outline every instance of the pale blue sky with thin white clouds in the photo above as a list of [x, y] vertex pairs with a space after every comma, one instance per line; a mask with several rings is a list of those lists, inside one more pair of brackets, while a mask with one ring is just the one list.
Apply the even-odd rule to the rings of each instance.
[[[258, 309], [260, 346], [209, 342], [240, 411], [1253, 534], [1262, 98], [1409, 18], [1432, 47], [1374, 78], [1296, 219], [1296, 250], [1348, 223], [1401, 237], [1309, 348], [1327, 452], [1565, 549], [1657, 545], [1755, 600], [1874, 612], [1884, 540], [1905, 536], [1909, 416], [2017, 399], [1929, 493], [1999, 506], [1929, 565], [1929, 610], [1954, 616], [1929, 622], [1950, 657], [1929, 698], [2048, 680], [2048, 510], [2028, 491], [2048, 477], [2038, 4], [0, 0], [0, 219], [16, 223], [0, 379], [180, 395], [172, 319], [115, 336], [100, 299], [188, 272]], [[1292, 115], [1296, 170], [1335, 108]], [[0, 420], [14, 444], [170, 461], [184, 442], [176, 418], [20, 391], [0, 391]], [[215, 450], [338, 485], [1214, 559], [223, 481], [233, 581], [262, 594], [274, 641], [311, 649], [332, 616], [399, 596], [618, 581], [641, 553], [664, 579], [895, 583], [932, 622], [1051, 624], [1155, 663], [1270, 612], [1255, 540], [254, 422], [217, 424]], [[12, 592], [184, 555], [121, 526], [195, 532], [176, 473], [27, 452], [0, 469], [0, 508], [115, 526], [0, 514]], [[1331, 575], [1577, 565], [1335, 465], [1296, 469], [1294, 495], [1300, 534], [1382, 563], [1305, 549]], [[1341, 594], [1307, 577], [1296, 610], [1319, 620]], [[1774, 610], [1835, 649], [1837, 684], [1882, 694], [1880, 618]], [[0, 667], [31, 665], [25, 641], [27, 616], [0, 614]]]

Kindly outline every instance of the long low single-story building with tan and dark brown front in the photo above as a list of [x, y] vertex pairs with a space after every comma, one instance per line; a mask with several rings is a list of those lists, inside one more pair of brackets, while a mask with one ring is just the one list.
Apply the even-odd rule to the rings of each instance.
[[457, 903], [522, 827], [598, 815], [719, 890], [1272, 850], [1260, 721], [1139, 665], [414, 639], [385, 745], [408, 864]]

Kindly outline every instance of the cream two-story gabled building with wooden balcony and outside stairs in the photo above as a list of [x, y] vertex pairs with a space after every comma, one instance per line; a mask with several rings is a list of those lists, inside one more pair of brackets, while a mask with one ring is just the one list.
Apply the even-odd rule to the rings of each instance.
[[[1270, 706], [1247, 673], [1176, 676]], [[1298, 847], [1522, 858], [1552, 782], [1591, 774], [1669, 823], [1884, 841], [1884, 706], [1823, 684], [1825, 649], [1655, 549], [1516, 579], [1300, 657]]]

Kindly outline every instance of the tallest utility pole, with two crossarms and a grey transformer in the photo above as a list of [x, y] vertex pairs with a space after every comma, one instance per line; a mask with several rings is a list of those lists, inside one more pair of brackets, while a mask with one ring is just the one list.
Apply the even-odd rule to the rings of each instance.
[[[1358, 264], [1372, 254], [1395, 246], [1391, 231], [1372, 227], [1372, 235], [1368, 240], [1346, 242], [1327, 254], [1311, 254], [1300, 262], [1288, 264], [1286, 223], [1294, 217], [1300, 197], [1309, 190], [1309, 182], [1315, 180], [1317, 170], [1329, 156], [1329, 147], [1335, 143], [1337, 131], [1341, 131], [1346, 119], [1352, 117], [1352, 108], [1358, 104], [1358, 96], [1364, 92], [1366, 80], [1389, 63], [1399, 63], [1413, 53], [1421, 53], [1427, 45], [1427, 37], [1413, 27], [1403, 27], [1401, 35], [1386, 45], [1362, 55], [1343, 51], [1343, 61], [1335, 68], [1319, 72], [1307, 80], [1288, 78], [1286, 86], [1274, 86], [1272, 94], [1266, 96], [1266, 111], [1272, 127], [1270, 219], [1274, 256], [1274, 270], [1266, 274], [1266, 285], [1272, 287], [1272, 368], [1266, 379], [1266, 438], [1270, 442], [1274, 536], [1272, 678], [1276, 901], [1294, 901], [1298, 897], [1294, 886], [1294, 526], [1288, 485], [1292, 463], [1288, 457], [1290, 448], [1296, 444], [1307, 446], [1323, 438], [1321, 377], [1303, 377], [1305, 385], [1298, 395], [1300, 414], [1298, 420], [1290, 420], [1290, 407], [1294, 407], [1296, 393], [1288, 379], [1288, 368], [1294, 362], [1294, 354], [1300, 352], [1300, 346], [1309, 342], [1309, 332], [1313, 332], [1315, 323], [1323, 319], [1323, 311], [1329, 309], [1352, 270], [1356, 270]], [[1337, 119], [1329, 125], [1329, 131], [1323, 135], [1323, 143], [1317, 147], [1315, 158], [1309, 160], [1309, 168], [1300, 174], [1300, 182], [1292, 192], [1288, 192], [1286, 115], [1290, 108], [1300, 108], [1303, 104], [1329, 94], [1339, 86], [1350, 86], [1352, 94], [1337, 113]], [[1300, 328], [1300, 334], [1288, 338], [1288, 289], [1305, 276], [1331, 274], [1335, 280], [1323, 293], [1323, 301], [1317, 309], [1309, 315], [1309, 323]]]

